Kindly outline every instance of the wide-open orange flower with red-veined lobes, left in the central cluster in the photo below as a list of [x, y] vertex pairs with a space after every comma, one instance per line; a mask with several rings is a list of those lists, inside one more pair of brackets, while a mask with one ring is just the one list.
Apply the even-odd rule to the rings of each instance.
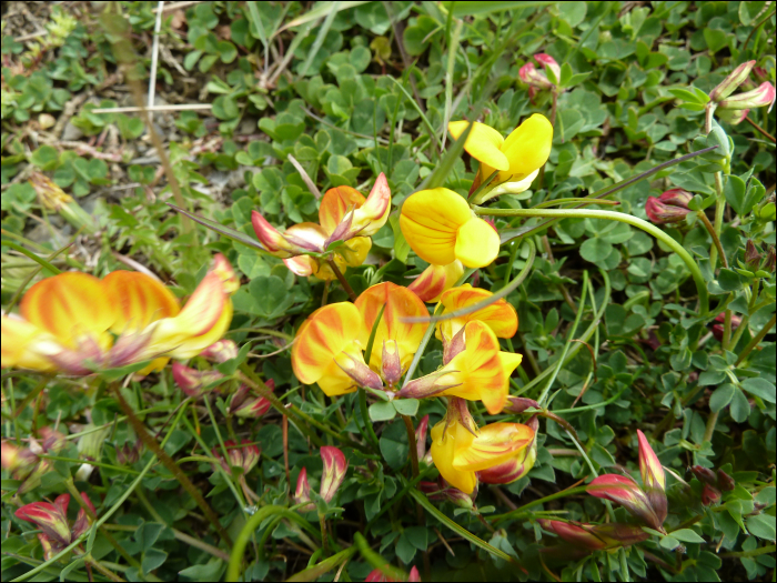
[[[375, 320], [370, 366], [364, 350]], [[292, 348], [292, 368], [300, 382], [319, 383], [330, 396], [359, 386], [383, 389], [395, 384], [407, 368], [427, 323], [404, 323], [408, 316], [428, 315], [424, 303], [406, 288], [391, 282], [365, 290], [355, 304], [340, 302], [313, 312], [300, 326]]]

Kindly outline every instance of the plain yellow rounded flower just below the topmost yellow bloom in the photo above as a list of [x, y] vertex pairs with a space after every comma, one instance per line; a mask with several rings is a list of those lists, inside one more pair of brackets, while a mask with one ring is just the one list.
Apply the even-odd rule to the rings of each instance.
[[400, 228], [411, 249], [435, 265], [458, 260], [467, 268], [484, 268], [500, 252], [496, 229], [444, 188], [411, 194], [402, 205]]

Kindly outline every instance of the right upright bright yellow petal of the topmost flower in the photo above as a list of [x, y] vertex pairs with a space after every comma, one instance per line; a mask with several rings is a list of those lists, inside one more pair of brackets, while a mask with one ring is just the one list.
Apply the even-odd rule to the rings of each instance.
[[502, 151], [509, 161], [509, 169], [500, 173], [500, 182], [509, 180], [515, 174], [518, 174], [521, 180], [542, 168], [551, 155], [552, 145], [553, 125], [545, 115], [533, 114], [518, 125], [502, 145]]

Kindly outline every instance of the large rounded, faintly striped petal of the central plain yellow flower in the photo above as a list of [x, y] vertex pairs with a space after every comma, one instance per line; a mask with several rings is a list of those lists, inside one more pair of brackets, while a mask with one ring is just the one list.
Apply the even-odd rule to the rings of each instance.
[[411, 194], [402, 205], [400, 228], [415, 253], [428, 263], [447, 265], [456, 259], [460, 228], [473, 219], [466, 201], [438, 188]]

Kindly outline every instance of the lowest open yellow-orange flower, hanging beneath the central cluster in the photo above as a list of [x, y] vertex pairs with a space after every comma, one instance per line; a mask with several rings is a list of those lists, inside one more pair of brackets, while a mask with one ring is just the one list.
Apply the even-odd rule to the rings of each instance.
[[477, 472], [521, 455], [534, 435], [534, 430], [521, 423], [478, 429], [466, 402], [451, 399], [446, 418], [432, 428], [432, 460], [451, 485], [471, 494], [477, 485]]

